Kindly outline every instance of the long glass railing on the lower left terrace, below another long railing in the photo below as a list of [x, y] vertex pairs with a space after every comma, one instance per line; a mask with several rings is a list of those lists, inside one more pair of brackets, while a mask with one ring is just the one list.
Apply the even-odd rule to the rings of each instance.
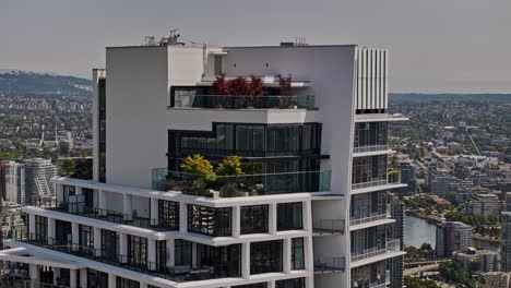
[[152, 276], [170, 279], [173, 281], [205, 280], [228, 276], [223, 272], [217, 272], [211, 266], [192, 268], [188, 265], [183, 265], [167, 267], [164, 263], [134, 260], [129, 255], [118, 254], [108, 250], [98, 250], [92, 247], [73, 244], [34, 233], [25, 233], [21, 237], [16, 237], [14, 240], [143, 274], [150, 274]]

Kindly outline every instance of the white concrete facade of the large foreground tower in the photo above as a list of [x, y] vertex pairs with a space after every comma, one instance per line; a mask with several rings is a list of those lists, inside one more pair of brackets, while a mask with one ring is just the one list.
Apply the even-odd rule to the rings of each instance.
[[[384, 113], [388, 107], [387, 50], [346, 46], [292, 46], [292, 47], [226, 47], [203, 48], [187, 46], [144, 46], [107, 48], [106, 70], [94, 70], [94, 180], [56, 178], [58, 199], [63, 191], [74, 188], [76, 195], [91, 191], [94, 216], [62, 211], [55, 207], [27, 206], [31, 215], [29, 232], [37, 233], [35, 216], [48, 219], [47, 232], [56, 236], [56, 220], [71, 225], [71, 244], [81, 245], [80, 227], [93, 229], [94, 248], [100, 250], [105, 230], [115, 232], [119, 239], [120, 255], [129, 255], [130, 237], [147, 241], [147, 260], [156, 262], [159, 241], [165, 242], [165, 263], [176, 268], [176, 241], [192, 243], [192, 268], [199, 267], [199, 245], [222, 248], [239, 245], [239, 277], [221, 277], [200, 280], [176, 280], [158, 277], [152, 271], [146, 274], [123, 265], [112, 265], [72, 253], [55, 252], [62, 263], [80, 262], [83, 266], [72, 267], [72, 275], [86, 273], [85, 268], [108, 274], [108, 287], [116, 277], [139, 281], [141, 287], [234, 287], [239, 285], [265, 284], [276, 287], [280, 280], [304, 278], [302, 285], [312, 287], [352, 287], [352, 267], [381, 263], [403, 255], [395, 247], [383, 247], [378, 253], [350, 254], [352, 233], [385, 227], [395, 220], [388, 215], [368, 217], [350, 226], [352, 197], [382, 190], [403, 187], [397, 183], [372, 184], [368, 188], [352, 189], [354, 157], [372, 157], [395, 153], [384, 149], [369, 153], [353, 153], [355, 122], [385, 122], [406, 120], [402, 116]], [[221, 57], [221, 58], [218, 58]], [[261, 75], [263, 79], [278, 79], [276, 75], [292, 75], [297, 95], [313, 95], [317, 109], [209, 109], [177, 108], [171, 106], [171, 91], [175, 86], [207, 86], [206, 81], [222, 63], [227, 76]], [[99, 177], [99, 80], [106, 79], [106, 157], [105, 182]], [[274, 87], [269, 81], [264, 85]], [[156, 191], [152, 188], [152, 169], [167, 166], [169, 130], [211, 132], [213, 124], [258, 123], [258, 124], [302, 124], [321, 123], [320, 160], [321, 170], [331, 171], [329, 191], [300, 191], [299, 193], [257, 195], [241, 197], [203, 197], [181, 193], [182, 191]], [[387, 166], [385, 166], [387, 167]], [[66, 189], [64, 189], [66, 187]], [[151, 224], [162, 219], [159, 203], [169, 201], [179, 206], [179, 228], [156, 229], [157, 225], [135, 224], [134, 218], [145, 218]], [[278, 230], [278, 205], [301, 203], [302, 227]], [[381, 204], [381, 203], [380, 203]], [[211, 208], [229, 208], [230, 235], [207, 236], [189, 231], [191, 205]], [[268, 232], [242, 235], [241, 209], [246, 206], [268, 206]], [[109, 212], [107, 212], [109, 211]], [[105, 217], [115, 212], [119, 219]], [[381, 215], [379, 215], [381, 216]], [[330, 228], [323, 226], [329, 223]], [[335, 228], [334, 228], [335, 227]], [[39, 231], [40, 232], [40, 231]], [[305, 267], [293, 268], [294, 239], [302, 239]], [[262, 241], [281, 241], [282, 269], [271, 273], [251, 273], [251, 247]], [[387, 241], [387, 240], [385, 240]], [[9, 241], [10, 247], [49, 253], [29, 241]], [[73, 247], [74, 249], [74, 247]], [[159, 250], [158, 250], [159, 251]], [[365, 251], [365, 250], [364, 250]], [[35, 252], [33, 252], [35, 253]], [[96, 253], [96, 252], [95, 252]], [[97, 254], [96, 254], [97, 256]], [[7, 257], [0, 254], [0, 260]], [[353, 262], [352, 262], [353, 260]], [[326, 265], [332, 261], [332, 265]], [[29, 261], [28, 261], [29, 262]], [[28, 263], [25, 261], [25, 263]], [[122, 257], [119, 263], [124, 263]], [[37, 263], [29, 263], [40, 265]], [[60, 264], [59, 264], [60, 265]], [[63, 265], [60, 265], [63, 266]], [[319, 268], [320, 267], [320, 268]], [[85, 272], [83, 272], [85, 271]], [[73, 277], [74, 277], [73, 276]], [[80, 276], [81, 285], [84, 285]], [[388, 284], [384, 281], [383, 284]], [[381, 285], [381, 284], [380, 284]], [[298, 287], [297, 287], [298, 288]]]

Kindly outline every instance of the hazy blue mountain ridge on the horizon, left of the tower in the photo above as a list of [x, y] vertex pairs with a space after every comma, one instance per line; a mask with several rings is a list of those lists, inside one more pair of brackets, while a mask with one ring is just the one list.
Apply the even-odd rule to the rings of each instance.
[[24, 71], [0, 73], [0, 94], [7, 95], [91, 96], [91, 80], [74, 76]]

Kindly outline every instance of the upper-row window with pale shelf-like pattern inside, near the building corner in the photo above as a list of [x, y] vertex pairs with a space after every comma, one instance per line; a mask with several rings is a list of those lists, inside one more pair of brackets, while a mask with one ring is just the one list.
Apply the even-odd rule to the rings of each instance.
[[207, 236], [231, 236], [231, 208], [188, 205], [188, 231]]

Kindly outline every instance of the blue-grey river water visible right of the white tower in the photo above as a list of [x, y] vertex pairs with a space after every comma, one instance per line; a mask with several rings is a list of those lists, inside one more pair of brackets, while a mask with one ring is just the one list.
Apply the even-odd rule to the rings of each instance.
[[[428, 243], [435, 249], [437, 237], [437, 226], [414, 216], [405, 216], [404, 243], [419, 248], [423, 243]], [[500, 245], [489, 242], [474, 240], [474, 244], [484, 249], [500, 252]]]

